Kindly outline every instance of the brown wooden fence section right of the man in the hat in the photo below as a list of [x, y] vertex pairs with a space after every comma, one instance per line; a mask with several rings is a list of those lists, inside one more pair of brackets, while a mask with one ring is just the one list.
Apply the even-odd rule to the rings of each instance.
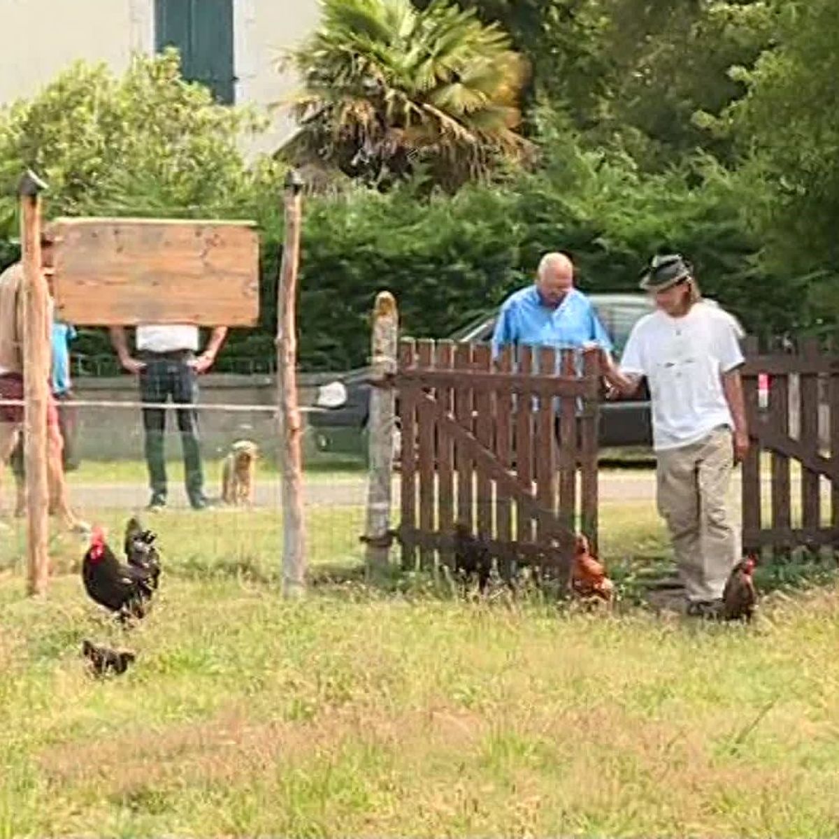
[[750, 338], [746, 356], [743, 548], [839, 549], [839, 352], [817, 340], [762, 352]]

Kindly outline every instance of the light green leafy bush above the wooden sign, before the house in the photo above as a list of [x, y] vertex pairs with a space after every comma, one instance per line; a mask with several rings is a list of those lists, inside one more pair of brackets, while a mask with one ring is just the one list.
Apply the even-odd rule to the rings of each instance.
[[[0, 112], [0, 189], [13, 195], [31, 167], [50, 185], [53, 215], [225, 215], [265, 175], [240, 147], [259, 127], [252, 112], [183, 81], [175, 51], [136, 56], [122, 76], [79, 62]], [[4, 216], [8, 224], [10, 198]]]

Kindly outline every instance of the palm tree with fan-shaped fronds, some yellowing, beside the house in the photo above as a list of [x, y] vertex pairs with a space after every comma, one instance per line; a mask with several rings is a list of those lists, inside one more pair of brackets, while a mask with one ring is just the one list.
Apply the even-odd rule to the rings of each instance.
[[300, 131], [282, 151], [381, 182], [425, 164], [449, 189], [521, 159], [525, 62], [497, 26], [435, 0], [321, 0], [320, 29], [289, 58]]

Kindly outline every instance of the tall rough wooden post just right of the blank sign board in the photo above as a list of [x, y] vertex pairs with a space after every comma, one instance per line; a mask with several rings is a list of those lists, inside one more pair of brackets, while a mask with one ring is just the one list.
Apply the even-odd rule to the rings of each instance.
[[303, 181], [289, 171], [285, 179], [285, 241], [277, 289], [277, 401], [279, 464], [283, 482], [283, 593], [305, 591], [305, 521], [300, 409], [297, 402], [297, 271], [300, 265]]

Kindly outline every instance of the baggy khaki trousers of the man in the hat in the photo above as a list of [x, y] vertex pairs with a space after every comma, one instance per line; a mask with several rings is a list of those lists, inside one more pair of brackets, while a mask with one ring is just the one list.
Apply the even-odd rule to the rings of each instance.
[[738, 534], [728, 511], [733, 456], [725, 427], [690, 446], [656, 452], [659, 514], [690, 602], [720, 599], [737, 563]]

